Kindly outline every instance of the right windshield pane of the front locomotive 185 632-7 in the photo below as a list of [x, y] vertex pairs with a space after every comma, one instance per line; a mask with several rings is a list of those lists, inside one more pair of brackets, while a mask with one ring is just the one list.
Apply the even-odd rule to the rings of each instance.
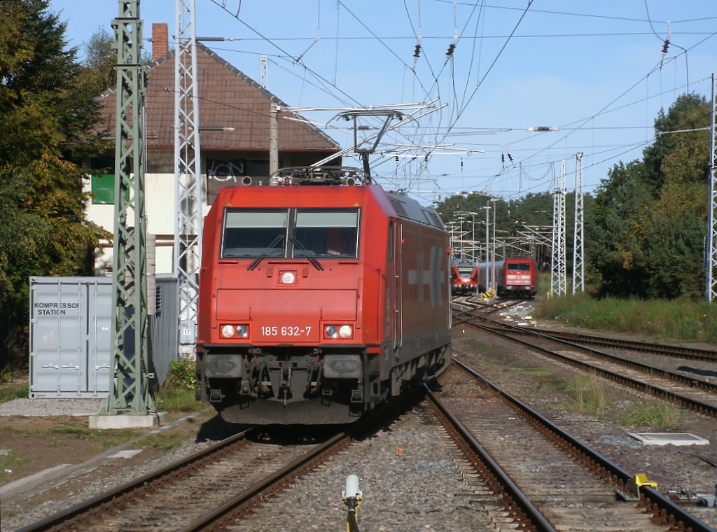
[[297, 209], [293, 257], [355, 259], [359, 209]]

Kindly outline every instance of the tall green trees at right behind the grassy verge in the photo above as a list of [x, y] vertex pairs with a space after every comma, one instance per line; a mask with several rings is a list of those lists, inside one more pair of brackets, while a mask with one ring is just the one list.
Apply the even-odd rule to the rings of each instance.
[[591, 254], [599, 294], [703, 294], [710, 110], [698, 95], [680, 96], [660, 111], [642, 161], [616, 165], [601, 184]]

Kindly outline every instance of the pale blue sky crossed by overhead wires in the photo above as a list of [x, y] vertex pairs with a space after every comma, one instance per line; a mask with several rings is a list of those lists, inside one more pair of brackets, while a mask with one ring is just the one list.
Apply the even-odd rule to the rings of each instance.
[[[175, 3], [141, 1], [147, 49], [156, 23], [173, 47]], [[112, 34], [118, 2], [50, 10], [82, 57], [92, 34]], [[717, 72], [714, 0], [195, 0], [195, 14], [196, 37], [230, 39], [204, 44], [257, 81], [265, 55], [267, 89], [344, 148], [353, 130], [338, 113], [404, 113], [372, 173], [426, 204], [553, 191], [563, 166], [568, 191], [580, 168], [594, 193], [615, 164], [642, 157], [660, 109], [686, 92], [711, 100]], [[201, 86], [199, 97], [201, 109]], [[383, 123], [361, 118], [359, 139]]]

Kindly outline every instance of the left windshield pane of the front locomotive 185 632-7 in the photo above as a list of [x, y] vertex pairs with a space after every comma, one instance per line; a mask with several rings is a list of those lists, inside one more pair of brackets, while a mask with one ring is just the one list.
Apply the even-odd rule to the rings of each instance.
[[287, 210], [227, 209], [222, 258], [284, 257]]

